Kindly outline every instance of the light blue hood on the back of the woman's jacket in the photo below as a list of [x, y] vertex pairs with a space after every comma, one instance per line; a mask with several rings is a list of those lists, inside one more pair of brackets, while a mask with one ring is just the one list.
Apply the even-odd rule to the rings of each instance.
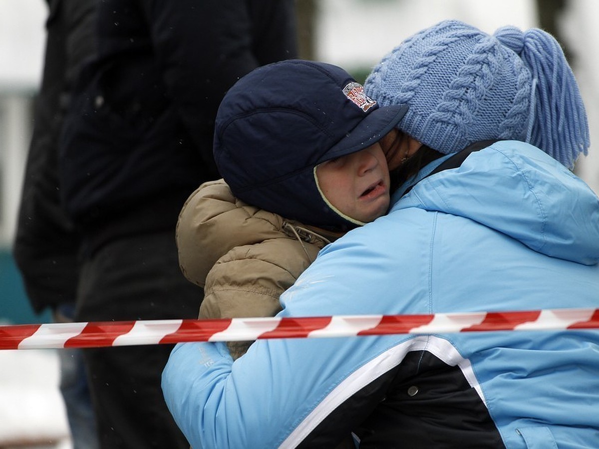
[[547, 256], [599, 262], [597, 195], [524, 142], [497, 142], [459, 168], [424, 178], [393, 209], [409, 207], [466, 217]]

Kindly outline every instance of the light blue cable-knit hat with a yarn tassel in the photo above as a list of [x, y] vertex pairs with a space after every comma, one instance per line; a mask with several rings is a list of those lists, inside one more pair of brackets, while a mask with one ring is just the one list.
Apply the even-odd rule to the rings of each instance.
[[588, 153], [576, 79], [559, 43], [540, 29], [506, 26], [491, 36], [446, 20], [394, 48], [364, 89], [381, 105], [409, 105], [397, 127], [441, 153], [517, 139], [568, 168]]

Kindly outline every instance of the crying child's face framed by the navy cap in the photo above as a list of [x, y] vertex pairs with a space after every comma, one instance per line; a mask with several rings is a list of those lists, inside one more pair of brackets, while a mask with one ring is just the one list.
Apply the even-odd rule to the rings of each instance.
[[321, 163], [316, 177], [326, 199], [352, 219], [372, 222], [389, 207], [389, 169], [379, 142]]

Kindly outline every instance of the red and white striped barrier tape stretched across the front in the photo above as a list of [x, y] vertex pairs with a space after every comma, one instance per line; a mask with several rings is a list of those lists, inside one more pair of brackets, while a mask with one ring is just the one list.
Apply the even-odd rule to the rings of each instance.
[[265, 338], [325, 338], [393, 333], [564, 329], [599, 329], [599, 309], [17, 324], [0, 326], [0, 350], [91, 348]]

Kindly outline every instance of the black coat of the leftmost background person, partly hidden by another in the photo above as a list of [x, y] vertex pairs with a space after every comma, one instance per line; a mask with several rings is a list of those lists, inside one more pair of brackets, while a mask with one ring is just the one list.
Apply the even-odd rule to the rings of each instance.
[[79, 236], [59, 199], [58, 135], [81, 64], [95, 51], [97, 0], [49, 0], [46, 55], [35, 99], [13, 256], [36, 312], [74, 302]]

